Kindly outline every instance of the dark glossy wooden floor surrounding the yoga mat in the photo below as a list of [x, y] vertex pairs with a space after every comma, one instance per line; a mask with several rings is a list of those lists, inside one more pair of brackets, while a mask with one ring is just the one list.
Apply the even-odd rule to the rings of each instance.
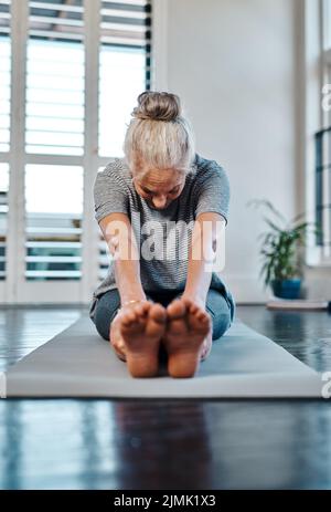
[[[85, 309], [0, 312], [0, 370]], [[331, 316], [238, 306], [331, 370]], [[330, 400], [0, 400], [1, 489], [331, 489]]]

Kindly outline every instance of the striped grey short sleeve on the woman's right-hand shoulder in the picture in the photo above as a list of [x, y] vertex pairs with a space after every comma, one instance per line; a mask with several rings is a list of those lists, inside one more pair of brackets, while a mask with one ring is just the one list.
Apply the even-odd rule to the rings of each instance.
[[229, 181], [227, 174], [215, 161], [199, 173], [195, 184], [195, 217], [214, 211], [227, 223], [229, 206]]

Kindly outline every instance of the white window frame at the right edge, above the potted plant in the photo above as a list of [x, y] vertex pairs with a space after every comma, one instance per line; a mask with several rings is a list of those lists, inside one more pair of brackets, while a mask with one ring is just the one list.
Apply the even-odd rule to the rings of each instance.
[[[330, 0], [305, 0], [299, 9], [299, 213], [305, 212], [306, 221], [313, 226], [317, 222], [317, 184], [316, 184], [316, 134], [330, 125], [329, 116], [322, 107], [322, 88], [325, 83], [325, 69], [330, 59], [330, 49], [325, 48], [327, 2]], [[330, 41], [330, 38], [329, 38]], [[327, 173], [324, 173], [327, 175]], [[325, 177], [325, 180], [329, 177]], [[327, 184], [323, 184], [327, 190]], [[301, 199], [303, 198], [303, 199]], [[329, 220], [328, 220], [329, 221]], [[308, 230], [306, 263], [310, 268], [330, 268], [330, 248], [319, 245], [313, 229]]]

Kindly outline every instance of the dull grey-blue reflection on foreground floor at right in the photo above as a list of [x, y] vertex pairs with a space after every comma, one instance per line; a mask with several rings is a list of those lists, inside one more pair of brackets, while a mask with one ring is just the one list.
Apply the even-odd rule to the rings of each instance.
[[323, 406], [277, 400], [212, 406], [213, 487], [330, 488], [331, 410]]

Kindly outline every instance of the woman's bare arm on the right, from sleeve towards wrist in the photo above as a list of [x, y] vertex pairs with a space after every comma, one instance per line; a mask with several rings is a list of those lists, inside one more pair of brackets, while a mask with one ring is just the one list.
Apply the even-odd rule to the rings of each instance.
[[[195, 220], [189, 251], [188, 278], [184, 297], [205, 306], [212, 280], [213, 255], [224, 251], [225, 219], [220, 213], [200, 213]], [[223, 247], [216, 247], [216, 244]]]

